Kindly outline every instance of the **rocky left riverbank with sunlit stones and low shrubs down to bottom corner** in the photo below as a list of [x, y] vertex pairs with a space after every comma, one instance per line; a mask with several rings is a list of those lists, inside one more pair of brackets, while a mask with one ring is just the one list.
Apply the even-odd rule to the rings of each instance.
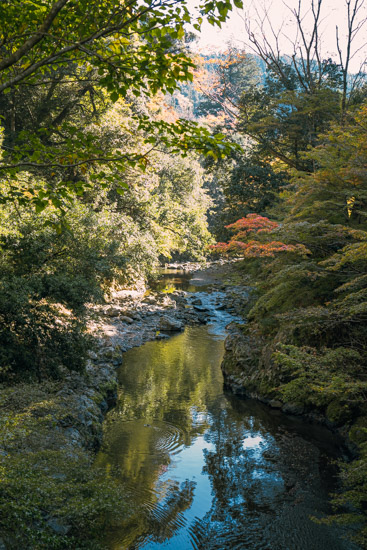
[[[185, 271], [193, 274], [195, 285], [212, 294], [212, 307], [233, 311], [234, 287], [233, 296], [223, 300], [226, 266], [219, 262], [207, 270], [197, 268], [188, 264]], [[209, 318], [210, 308], [182, 290], [147, 292], [141, 285], [114, 292], [108, 303], [89, 308], [95, 346], [84, 372], [0, 390], [0, 468], [7, 472], [1, 550], [55, 544], [82, 548], [80, 538], [83, 533], [89, 538], [91, 522], [97, 529], [108, 508], [109, 517], [124, 510], [123, 496], [120, 502], [106, 480], [91, 470], [104, 415], [115, 402], [117, 367], [128, 349], [169, 338], [186, 325], [205, 324]]]

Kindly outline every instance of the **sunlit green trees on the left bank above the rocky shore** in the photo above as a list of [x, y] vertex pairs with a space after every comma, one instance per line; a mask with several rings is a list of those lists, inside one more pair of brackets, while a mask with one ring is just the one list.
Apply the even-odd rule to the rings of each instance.
[[[231, 7], [201, 11], [220, 24]], [[230, 145], [165, 100], [192, 78], [184, 26], [202, 19], [184, 2], [3, 2], [1, 20], [0, 376], [41, 379], [82, 368], [87, 302], [202, 257], [194, 151]]]

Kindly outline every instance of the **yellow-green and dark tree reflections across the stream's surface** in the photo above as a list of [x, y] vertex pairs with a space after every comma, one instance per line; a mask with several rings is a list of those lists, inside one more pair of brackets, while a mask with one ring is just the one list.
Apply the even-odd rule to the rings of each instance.
[[292, 427], [293, 421], [261, 404], [221, 394], [222, 352], [222, 342], [193, 328], [125, 354], [120, 402], [109, 415], [97, 458], [97, 465], [120, 481], [131, 506], [129, 517], [111, 533], [110, 548], [133, 550], [148, 541], [164, 545], [184, 526], [195, 484], [173, 481], [167, 471], [172, 453], [203, 434], [209, 444], [203, 473], [211, 483], [212, 504], [202, 519], [187, 525], [194, 548], [319, 550], [330, 541], [326, 537], [307, 547], [287, 538], [298, 522], [297, 533], [307, 544], [302, 528], [314, 510], [304, 508], [296, 517], [292, 510], [298, 508], [290, 506], [305, 484], [321, 493], [319, 478], [313, 484], [310, 477], [318, 450], [299, 436], [299, 423]]

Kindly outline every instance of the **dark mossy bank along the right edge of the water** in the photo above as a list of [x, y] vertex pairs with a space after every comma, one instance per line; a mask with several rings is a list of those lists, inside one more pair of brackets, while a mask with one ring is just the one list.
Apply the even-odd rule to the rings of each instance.
[[357, 370], [357, 358], [338, 348], [315, 355], [306, 347], [269, 342], [246, 324], [227, 328], [222, 371], [228, 389], [343, 437], [351, 460], [340, 465], [342, 490], [333, 498], [335, 515], [326, 521], [356, 524], [355, 540], [367, 548], [367, 405], [363, 383], [340, 369], [354, 359]]

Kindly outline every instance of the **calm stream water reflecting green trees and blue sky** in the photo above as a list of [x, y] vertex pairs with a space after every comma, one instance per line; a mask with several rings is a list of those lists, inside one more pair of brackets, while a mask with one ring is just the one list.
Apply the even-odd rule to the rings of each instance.
[[223, 390], [219, 292], [166, 273], [156, 288], [195, 292], [207, 326], [124, 354], [119, 397], [96, 464], [122, 484], [131, 515], [117, 549], [356, 550], [330, 512], [340, 442], [326, 429]]

